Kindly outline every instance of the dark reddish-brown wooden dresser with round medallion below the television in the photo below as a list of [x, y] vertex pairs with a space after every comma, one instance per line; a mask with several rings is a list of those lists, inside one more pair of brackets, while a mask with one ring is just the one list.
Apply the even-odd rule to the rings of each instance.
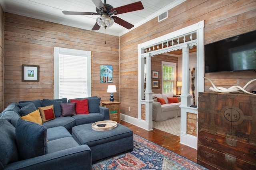
[[256, 170], [256, 96], [199, 93], [197, 163], [211, 170]]

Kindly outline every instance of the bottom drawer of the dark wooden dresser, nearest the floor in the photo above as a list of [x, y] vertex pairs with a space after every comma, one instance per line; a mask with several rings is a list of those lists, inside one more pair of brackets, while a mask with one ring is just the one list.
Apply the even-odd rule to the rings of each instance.
[[224, 154], [216, 150], [198, 145], [198, 156], [199, 162], [204, 162], [204, 166], [209, 169], [220, 169], [220, 170], [254, 170], [256, 165], [244, 162], [236, 158], [234, 155]]

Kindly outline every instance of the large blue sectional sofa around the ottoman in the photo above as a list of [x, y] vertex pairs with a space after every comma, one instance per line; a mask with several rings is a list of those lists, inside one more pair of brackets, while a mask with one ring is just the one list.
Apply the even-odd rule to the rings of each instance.
[[[79, 145], [70, 132], [77, 125], [108, 120], [109, 110], [100, 107], [100, 98], [87, 99], [89, 114], [64, 117], [59, 105], [70, 103], [66, 98], [13, 102], [6, 107], [0, 113], [0, 170], [91, 170], [90, 148]], [[54, 106], [55, 118], [42, 125], [20, 118], [33, 112], [34, 106], [48, 105]]]

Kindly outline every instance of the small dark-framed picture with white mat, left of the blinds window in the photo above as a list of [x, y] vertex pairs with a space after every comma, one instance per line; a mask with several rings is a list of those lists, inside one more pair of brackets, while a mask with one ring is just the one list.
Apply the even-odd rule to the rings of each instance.
[[22, 64], [22, 82], [39, 82], [39, 66]]

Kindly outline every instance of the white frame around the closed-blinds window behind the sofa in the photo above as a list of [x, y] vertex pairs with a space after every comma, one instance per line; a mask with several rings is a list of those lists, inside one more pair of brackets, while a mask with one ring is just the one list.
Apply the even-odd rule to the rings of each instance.
[[91, 51], [54, 47], [54, 99], [59, 99], [59, 55], [84, 56], [87, 59], [87, 96], [91, 97]]

